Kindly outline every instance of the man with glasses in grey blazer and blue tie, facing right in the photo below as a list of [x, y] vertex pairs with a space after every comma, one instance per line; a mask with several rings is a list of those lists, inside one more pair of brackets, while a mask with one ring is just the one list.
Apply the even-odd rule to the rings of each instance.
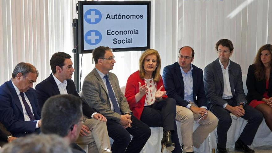
[[[151, 135], [150, 128], [133, 116], [119, 87], [117, 76], [109, 71], [115, 60], [112, 49], [100, 46], [92, 51], [95, 68], [83, 82], [83, 98], [107, 119], [113, 153], [138, 153]], [[130, 134], [133, 136], [130, 141]]]

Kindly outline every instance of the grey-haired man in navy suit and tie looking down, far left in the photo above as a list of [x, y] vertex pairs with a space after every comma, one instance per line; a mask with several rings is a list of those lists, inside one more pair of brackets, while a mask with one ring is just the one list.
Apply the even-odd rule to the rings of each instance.
[[40, 132], [40, 108], [32, 88], [38, 74], [33, 65], [20, 62], [12, 79], [0, 86], [0, 121], [15, 137]]

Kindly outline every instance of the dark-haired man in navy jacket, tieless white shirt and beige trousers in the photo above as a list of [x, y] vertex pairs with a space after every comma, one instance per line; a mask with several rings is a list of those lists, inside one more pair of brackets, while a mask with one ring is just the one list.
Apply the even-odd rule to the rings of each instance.
[[[37, 99], [42, 108], [45, 101], [54, 95], [72, 94], [79, 97], [74, 81], [71, 80], [74, 68], [71, 56], [64, 52], [54, 53], [50, 59], [52, 74], [36, 85]], [[76, 143], [87, 145], [88, 152], [111, 152], [106, 121], [107, 119], [97, 113], [83, 101], [83, 114], [88, 118], [82, 125], [80, 137]], [[91, 132], [90, 132], [91, 131]]]

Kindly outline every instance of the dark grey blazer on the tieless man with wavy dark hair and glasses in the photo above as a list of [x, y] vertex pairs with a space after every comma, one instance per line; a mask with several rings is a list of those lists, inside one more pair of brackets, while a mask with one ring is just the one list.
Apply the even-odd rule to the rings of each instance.
[[[234, 99], [236, 99], [237, 106], [240, 104], [240, 102], [247, 103], [243, 89], [242, 70], [240, 65], [230, 60], [228, 69], [232, 96]], [[223, 73], [217, 58], [204, 69], [204, 89], [210, 108], [213, 105], [223, 107], [223, 105], [226, 103], [226, 101], [222, 99], [224, 91], [223, 85]]]

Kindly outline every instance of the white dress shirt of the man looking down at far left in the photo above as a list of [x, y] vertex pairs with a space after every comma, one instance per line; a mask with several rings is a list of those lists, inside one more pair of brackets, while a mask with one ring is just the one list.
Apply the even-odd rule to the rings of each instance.
[[[15, 84], [13, 83], [12, 80], [11, 80], [11, 83], [12, 83], [13, 87], [15, 88], [16, 94], [17, 94], [17, 96], [19, 97], [19, 100], [20, 100], [20, 102], [21, 102], [21, 105], [22, 105], [22, 108], [23, 108], [23, 117], [24, 117], [24, 121], [30, 121], [30, 118], [29, 118], [29, 116], [28, 116], [27, 110], [25, 109], [24, 104], [23, 104], [23, 99], [22, 99], [22, 97], [20, 96], [20, 93], [21, 93], [21, 92], [20, 92], [19, 89], [15, 86]], [[29, 105], [29, 107], [30, 107], [31, 113], [33, 114], [33, 109], [32, 109], [32, 106], [31, 106], [29, 100], [28, 100], [28, 96], [27, 96], [25, 93], [23, 93], [23, 95], [24, 95], [24, 98], [25, 98], [26, 102], [28, 103], [28, 105]], [[33, 114], [33, 116], [34, 116], [34, 114]], [[39, 127], [38, 127], [39, 121], [36, 120], [36, 121], [34, 121], [34, 122], [37, 122], [35, 128], [36, 128], [36, 129], [39, 128]]]

